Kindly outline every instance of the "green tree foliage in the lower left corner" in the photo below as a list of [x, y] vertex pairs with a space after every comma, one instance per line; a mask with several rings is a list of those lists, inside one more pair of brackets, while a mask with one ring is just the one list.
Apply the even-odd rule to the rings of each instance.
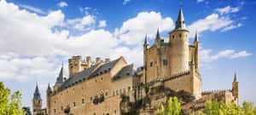
[[26, 112], [20, 108], [20, 91], [16, 91], [13, 95], [10, 94], [10, 89], [4, 88], [3, 82], [0, 82], [0, 114], [25, 115]]

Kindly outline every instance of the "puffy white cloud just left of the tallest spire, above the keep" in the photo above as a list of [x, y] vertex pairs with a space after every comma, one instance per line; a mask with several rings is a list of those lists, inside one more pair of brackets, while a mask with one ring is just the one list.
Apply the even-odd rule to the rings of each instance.
[[126, 44], [142, 44], [145, 35], [153, 38], [158, 27], [160, 32], [171, 31], [174, 27], [172, 18], [163, 18], [154, 11], [142, 12], [137, 17], [126, 20], [119, 29], [116, 28], [115, 36]]

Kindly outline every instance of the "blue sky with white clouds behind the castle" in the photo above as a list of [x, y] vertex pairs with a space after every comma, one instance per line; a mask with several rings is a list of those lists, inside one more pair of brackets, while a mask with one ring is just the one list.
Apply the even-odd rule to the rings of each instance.
[[[234, 72], [240, 100], [256, 102], [255, 6], [253, 0], [182, 0], [190, 31], [201, 42], [203, 90], [231, 89]], [[1, 0], [0, 81], [22, 93], [32, 106], [38, 82], [53, 85], [72, 55], [118, 58], [143, 64], [143, 39], [154, 42], [156, 30], [168, 37], [177, 20], [180, 0]]]

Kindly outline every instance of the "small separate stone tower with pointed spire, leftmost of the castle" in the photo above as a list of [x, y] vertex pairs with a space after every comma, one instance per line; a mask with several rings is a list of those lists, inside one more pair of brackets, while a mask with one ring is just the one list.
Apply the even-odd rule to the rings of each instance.
[[33, 100], [32, 100], [32, 107], [33, 107], [33, 115], [35, 115], [39, 110], [42, 109], [42, 99], [41, 94], [38, 89], [38, 83], [34, 92]]

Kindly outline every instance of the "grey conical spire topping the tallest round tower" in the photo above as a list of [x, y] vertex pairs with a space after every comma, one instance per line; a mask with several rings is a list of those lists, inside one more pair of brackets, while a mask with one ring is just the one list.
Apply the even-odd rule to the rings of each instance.
[[176, 20], [176, 26], [174, 30], [187, 30], [184, 16], [183, 16], [183, 9], [182, 6], [180, 6], [179, 13]]

